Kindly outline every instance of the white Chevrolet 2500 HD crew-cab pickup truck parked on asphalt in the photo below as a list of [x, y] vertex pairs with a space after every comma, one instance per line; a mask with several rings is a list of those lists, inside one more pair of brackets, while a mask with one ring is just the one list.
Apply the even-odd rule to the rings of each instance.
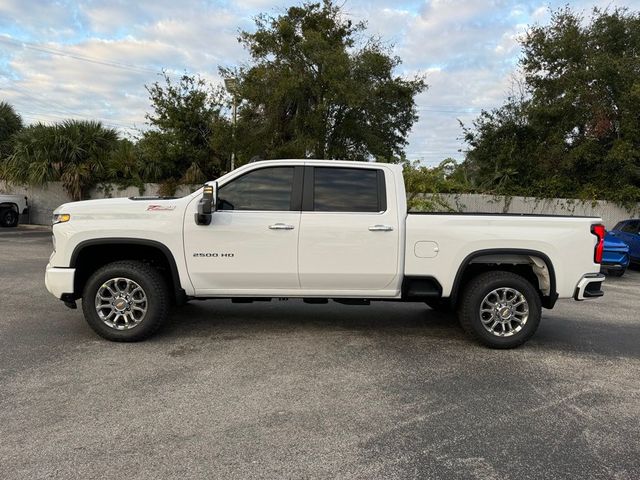
[[47, 289], [115, 341], [193, 298], [455, 308], [481, 343], [529, 339], [541, 307], [603, 294], [599, 218], [407, 213], [398, 165], [256, 162], [183, 198], [54, 212]]

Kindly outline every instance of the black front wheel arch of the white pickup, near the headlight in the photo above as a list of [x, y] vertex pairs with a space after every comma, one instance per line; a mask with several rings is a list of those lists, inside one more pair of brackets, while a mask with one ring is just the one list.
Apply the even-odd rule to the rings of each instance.
[[186, 293], [180, 282], [178, 267], [169, 248], [155, 240], [138, 238], [101, 238], [80, 242], [69, 262], [76, 269], [74, 296], [79, 298], [88, 279], [102, 266], [121, 260], [142, 260], [160, 270], [175, 301], [182, 304]]

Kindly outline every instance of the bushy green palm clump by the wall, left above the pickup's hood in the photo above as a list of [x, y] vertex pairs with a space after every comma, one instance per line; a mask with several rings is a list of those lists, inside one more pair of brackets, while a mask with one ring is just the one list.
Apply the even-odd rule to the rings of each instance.
[[73, 200], [81, 200], [104, 180], [105, 165], [117, 143], [116, 131], [100, 122], [30, 125], [14, 135], [5, 176], [10, 182], [32, 185], [61, 181]]

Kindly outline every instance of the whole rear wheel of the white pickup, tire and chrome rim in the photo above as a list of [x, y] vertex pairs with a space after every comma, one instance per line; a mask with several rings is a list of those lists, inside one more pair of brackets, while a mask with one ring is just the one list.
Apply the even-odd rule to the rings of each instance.
[[540, 296], [524, 277], [493, 271], [471, 280], [460, 300], [462, 328], [491, 348], [514, 348], [533, 336], [540, 324]]

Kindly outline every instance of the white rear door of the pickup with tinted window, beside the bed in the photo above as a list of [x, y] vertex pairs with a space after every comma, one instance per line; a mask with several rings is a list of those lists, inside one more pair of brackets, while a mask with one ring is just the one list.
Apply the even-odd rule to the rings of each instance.
[[305, 167], [298, 254], [302, 289], [348, 295], [392, 288], [400, 226], [395, 201], [387, 202], [395, 198], [391, 175], [381, 168]]

